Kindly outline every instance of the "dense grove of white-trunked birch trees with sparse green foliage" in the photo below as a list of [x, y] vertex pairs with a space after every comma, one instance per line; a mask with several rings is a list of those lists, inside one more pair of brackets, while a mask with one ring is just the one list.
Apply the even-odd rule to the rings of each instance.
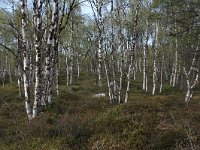
[[[110, 103], [144, 94], [185, 91], [199, 80], [198, 0], [20, 0], [0, 11], [1, 84], [17, 84], [31, 120], [84, 75]], [[85, 15], [87, 5], [90, 13]], [[184, 101], [184, 100], [183, 100]]]

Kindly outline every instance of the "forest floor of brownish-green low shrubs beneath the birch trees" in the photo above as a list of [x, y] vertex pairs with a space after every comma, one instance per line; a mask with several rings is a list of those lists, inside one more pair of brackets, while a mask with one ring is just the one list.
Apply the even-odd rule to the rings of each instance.
[[200, 149], [198, 95], [187, 107], [183, 91], [165, 87], [151, 96], [134, 82], [128, 103], [110, 104], [92, 96], [99, 90], [90, 79], [70, 91], [62, 84], [53, 105], [30, 123], [17, 86], [0, 87], [0, 150]]

